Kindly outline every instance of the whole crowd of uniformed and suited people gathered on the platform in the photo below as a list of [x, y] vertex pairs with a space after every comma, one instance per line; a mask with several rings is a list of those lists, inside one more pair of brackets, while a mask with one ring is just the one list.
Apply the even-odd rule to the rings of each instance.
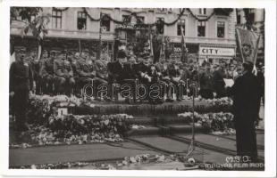
[[[26, 52], [23, 52], [26, 53]], [[150, 85], [161, 83], [163, 85], [183, 84], [185, 89], [180, 93], [179, 87], [172, 90], [171, 87], [163, 90], [167, 95], [166, 101], [172, 101], [173, 94], [180, 101], [184, 95], [194, 93], [190, 84], [197, 85], [197, 92], [202, 98], [212, 99], [225, 96], [225, 82], [223, 78], [236, 79], [241, 76], [241, 64], [219, 64], [203, 62], [181, 63], [175, 60], [153, 63], [149, 55], [128, 56], [124, 51], [119, 51], [116, 61], [105, 61], [94, 56], [89, 56], [87, 50], [82, 53], [66, 53], [44, 51], [41, 60], [38, 61], [36, 53], [28, 53], [24, 56], [29, 61], [34, 82], [34, 92], [37, 94], [76, 94], [80, 96], [84, 85], [92, 84], [134, 84]], [[261, 72], [260, 72], [261, 73]], [[109, 91], [109, 96], [112, 95]], [[196, 94], [196, 93], [195, 93]], [[109, 100], [111, 97], [107, 97]]]

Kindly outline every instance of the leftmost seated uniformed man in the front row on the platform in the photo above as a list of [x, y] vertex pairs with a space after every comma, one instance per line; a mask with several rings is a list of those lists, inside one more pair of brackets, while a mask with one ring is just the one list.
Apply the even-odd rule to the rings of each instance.
[[54, 85], [54, 61], [55, 61], [55, 51], [50, 52], [49, 59], [43, 59], [39, 75], [42, 78], [42, 86], [46, 88], [46, 93], [53, 93]]

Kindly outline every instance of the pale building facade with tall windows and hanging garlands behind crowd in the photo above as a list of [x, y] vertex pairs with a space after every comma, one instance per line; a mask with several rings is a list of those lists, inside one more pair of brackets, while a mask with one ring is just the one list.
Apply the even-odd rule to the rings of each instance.
[[[184, 39], [189, 50], [189, 59], [202, 62], [204, 60], [218, 62], [231, 61], [236, 56], [235, 27], [237, 14], [235, 9], [230, 12], [218, 12], [216, 9], [185, 9], [180, 19], [171, 25], [159, 26], [161, 35], [168, 36], [173, 44], [175, 54], [180, 54], [181, 33], [184, 28]], [[149, 9], [149, 8], [52, 8], [44, 7], [41, 13], [51, 14], [47, 23], [47, 35], [44, 46], [46, 49], [61, 48], [72, 51], [95, 46], [100, 39], [105, 51], [113, 59], [115, 39], [129, 43], [136, 30], [127, 30], [140, 22], [153, 24], [163, 20], [170, 23], [179, 17], [182, 9]], [[110, 18], [100, 16], [107, 14]], [[136, 18], [134, 18], [136, 14]], [[124, 21], [125, 26], [118, 21]], [[126, 26], [127, 24], [127, 26]], [[11, 36], [15, 45], [29, 45], [36, 42], [31, 33], [21, 38], [21, 22], [14, 21], [11, 25]], [[129, 26], [128, 26], [129, 25]], [[100, 36], [101, 28], [101, 36]], [[147, 28], [147, 27], [146, 27]], [[34, 42], [31, 42], [31, 41]]]

